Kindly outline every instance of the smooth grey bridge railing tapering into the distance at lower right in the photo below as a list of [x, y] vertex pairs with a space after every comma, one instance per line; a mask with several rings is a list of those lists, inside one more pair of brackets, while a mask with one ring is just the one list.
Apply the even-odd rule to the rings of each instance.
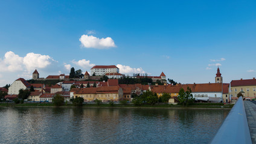
[[210, 143], [252, 143], [242, 97], [238, 98]]

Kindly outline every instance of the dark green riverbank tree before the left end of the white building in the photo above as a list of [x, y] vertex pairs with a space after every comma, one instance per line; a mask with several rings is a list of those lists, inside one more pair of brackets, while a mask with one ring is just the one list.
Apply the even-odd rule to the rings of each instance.
[[193, 95], [191, 94], [190, 87], [187, 87], [187, 91], [185, 92], [183, 88], [179, 90], [178, 100], [182, 103], [182, 106], [186, 104], [188, 106], [189, 103], [194, 101]]

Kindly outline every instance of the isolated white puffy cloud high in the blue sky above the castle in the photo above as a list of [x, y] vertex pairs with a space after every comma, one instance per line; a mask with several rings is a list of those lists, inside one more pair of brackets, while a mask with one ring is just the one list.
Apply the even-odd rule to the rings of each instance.
[[108, 49], [109, 47], [116, 47], [112, 38], [97, 38], [92, 35], [82, 35], [79, 38], [83, 47], [95, 49]]

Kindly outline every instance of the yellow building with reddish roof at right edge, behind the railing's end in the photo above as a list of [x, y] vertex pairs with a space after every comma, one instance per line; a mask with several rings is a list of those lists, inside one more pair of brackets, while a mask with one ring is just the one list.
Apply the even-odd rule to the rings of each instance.
[[[237, 94], [241, 92], [247, 100], [256, 98], [256, 79], [240, 79], [231, 81], [231, 97], [237, 97]], [[233, 99], [234, 99], [233, 98]]]

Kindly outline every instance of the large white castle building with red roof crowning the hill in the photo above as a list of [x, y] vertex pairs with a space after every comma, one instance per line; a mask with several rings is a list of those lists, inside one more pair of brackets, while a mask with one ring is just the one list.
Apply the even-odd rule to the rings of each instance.
[[106, 73], [119, 73], [119, 68], [115, 65], [95, 65], [91, 68], [91, 74], [104, 76]]

